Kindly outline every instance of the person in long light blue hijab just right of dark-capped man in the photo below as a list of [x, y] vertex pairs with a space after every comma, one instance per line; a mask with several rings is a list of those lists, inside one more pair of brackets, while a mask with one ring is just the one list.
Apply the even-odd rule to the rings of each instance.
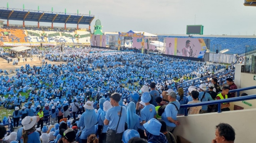
[[126, 122], [128, 129], [138, 130], [140, 127], [140, 117], [136, 114], [134, 102], [130, 102], [127, 107]]

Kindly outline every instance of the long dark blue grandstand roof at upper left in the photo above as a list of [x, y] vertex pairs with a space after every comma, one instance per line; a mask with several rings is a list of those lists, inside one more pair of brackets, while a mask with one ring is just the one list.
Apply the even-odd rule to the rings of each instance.
[[0, 7], [0, 18], [5, 20], [37, 21], [89, 25], [94, 15], [57, 13], [52, 11]]

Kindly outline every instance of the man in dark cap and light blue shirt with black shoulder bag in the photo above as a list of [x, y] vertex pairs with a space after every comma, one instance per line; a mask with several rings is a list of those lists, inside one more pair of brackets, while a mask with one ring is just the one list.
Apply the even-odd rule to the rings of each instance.
[[[110, 97], [110, 104], [113, 108], [109, 109], [106, 113], [104, 124], [109, 125], [107, 130], [107, 143], [121, 143], [122, 136], [124, 132], [125, 120], [126, 120], [126, 108], [118, 104], [121, 100], [119, 93], [113, 93]], [[121, 113], [122, 108], [122, 113]], [[119, 121], [120, 118], [120, 121]], [[119, 121], [119, 124], [118, 124]], [[110, 130], [116, 131], [116, 134], [113, 136], [108, 136]]]

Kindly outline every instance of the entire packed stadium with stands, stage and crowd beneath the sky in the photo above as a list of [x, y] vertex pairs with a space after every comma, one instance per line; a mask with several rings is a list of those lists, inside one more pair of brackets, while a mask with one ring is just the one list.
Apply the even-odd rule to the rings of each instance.
[[39, 6], [7, 4], [0, 18], [0, 141], [255, 141], [255, 35], [105, 32], [91, 13]]

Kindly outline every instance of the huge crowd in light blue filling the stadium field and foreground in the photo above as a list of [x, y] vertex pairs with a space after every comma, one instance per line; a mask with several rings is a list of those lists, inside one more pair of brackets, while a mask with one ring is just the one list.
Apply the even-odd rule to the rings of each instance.
[[[0, 77], [0, 105], [15, 110], [13, 126], [19, 128], [15, 140], [23, 137], [22, 143], [37, 143], [40, 135], [45, 143], [128, 143], [131, 138], [140, 143], [172, 143], [171, 133], [180, 125], [176, 117], [186, 110], [180, 105], [234, 97], [227, 95], [228, 87], [221, 90], [214, 77], [205, 79], [209, 83], [199, 84], [199, 89], [180, 86], [222, 66], [99, 48], [65, 47], [60, 52], [59, 47], [47, 47], [40, 54], [42, 66], [26, 64], [16, 69], [13, 77]], [[47, 60], [62, 63], [52, 65]], [[227, 75], [230, 72], [225, 71]], [[223, 82], [235, 89], [231, 78]], [[223, 104], [223, 111], [228, 107]], [[189, 114], [214, 109], [214, 105], [192, 107]], [[48, 129], [47, 123], [51, 123]]]

